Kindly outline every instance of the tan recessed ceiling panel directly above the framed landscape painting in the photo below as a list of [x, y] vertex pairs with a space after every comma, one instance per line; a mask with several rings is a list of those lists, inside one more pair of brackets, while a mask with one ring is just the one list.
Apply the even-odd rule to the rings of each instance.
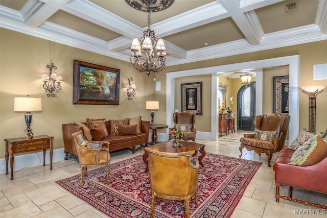
[[121, 36], [120, 34], [96, 25], [95, 23], [89, 22], [61, 10], [49, 17], [48, 21], [105, 41]]

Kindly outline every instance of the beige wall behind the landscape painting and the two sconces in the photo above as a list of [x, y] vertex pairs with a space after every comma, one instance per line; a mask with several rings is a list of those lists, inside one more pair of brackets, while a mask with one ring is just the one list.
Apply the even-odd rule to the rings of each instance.
[[[150, 111], [145, 110], [145, 102], [154, 100], [153, 78], [139, 73], [129, 62], [6, 29], [0, 30], [0, 158], [5, 157], [5, 138], [25, 135], [24, 113], [13, 111], [16, 96], [29, 94], [33, 98], [42, 98], [42, 111], [33, 113], [31, 128], [34, 135], [54, 136], [54, 149], [63, 148], [61, 125], [65, 123], [85, 122], [86, 118], [138, 115], [151, 120]], [[74, 105], [74, 59], [120, 69], [120, 105]], [[42, 88], [40, 79], [42, 72], [49, 73], [46, 65], [51, 63], [57, 66], [57, 73], [64, 79], [62, 89], [55, 98], [46, 96], [48, 92]], [[129, 77], [133, 77], [137, 87], [132, 101], [127, 99], [125, 88]], [[160, 101], [160, 109], [165, 109], [162, 107], [164, 105], [165, 101]]]

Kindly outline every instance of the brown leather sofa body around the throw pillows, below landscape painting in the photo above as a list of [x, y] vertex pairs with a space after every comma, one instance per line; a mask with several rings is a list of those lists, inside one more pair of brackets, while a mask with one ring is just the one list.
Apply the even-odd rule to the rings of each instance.
[[[142, 145], [144, 147], [147, 146], [149, 142], [149, 127], [150, 122], [147, 120], [141, 120], [141, 133], [137, 135], [110, 135], [110, 122], [109, 120], [105, 121], [106, 128], [108, 130], [109, 135], [106, 136], [101, 141], [108, 141], [109, 142], [109, 151], [117, 151], [126, 148], [132, 148], [133, 153], [137, 151], [139, 148], [135, 148], [137, 145]], [[86, 123], [82, 123], [86, 125]], [[63, 136], [63, 143], [64, 143], [64, 153], [65, 160], [71, 157], [78, 157], [76, 147], [74, 144], [74, 139], [72, 134], [82, 130], [84, 138], [84, 130], [82, 127], [74, 125], [74, 124], [62, 124], [62, 136]]]

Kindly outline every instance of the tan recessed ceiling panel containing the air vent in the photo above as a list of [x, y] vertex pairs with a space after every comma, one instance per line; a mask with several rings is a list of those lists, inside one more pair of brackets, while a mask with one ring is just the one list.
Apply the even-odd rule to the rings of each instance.
[[[286, 12], [286, 5], [296, 4], [296, 9]], [[256, 15], [264, 32], [273, 33], [291, 28], [313, 24], [319, 1], [283, 1], [256, 9]]]

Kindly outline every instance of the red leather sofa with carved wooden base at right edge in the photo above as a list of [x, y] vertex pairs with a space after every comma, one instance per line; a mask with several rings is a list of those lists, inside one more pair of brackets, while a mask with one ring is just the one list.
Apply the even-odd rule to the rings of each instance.
[[[276, 183], [276, 202], [279, 202], [279, 198], [282, 198], [327, 209], [324, 205], [298, 200], [292, 196], [293, 187], [327, 194], [327, 156], [316, 164], [310, 166], [297, 166], [289, 164], [294, 152], [294, 150], [286, 149], [284, 146], [273, 165]], [[279, 195], [279, 185], [290, 186], [288, 196]]]

